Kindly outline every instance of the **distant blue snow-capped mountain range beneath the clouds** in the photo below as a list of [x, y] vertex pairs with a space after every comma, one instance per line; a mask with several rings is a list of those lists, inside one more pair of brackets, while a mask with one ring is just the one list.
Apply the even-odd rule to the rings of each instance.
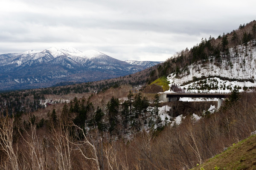
[[133, 74], [151, 65], [129, 64], [99, 51], [82, 52], [76, 48], [52, 47], [43, 51], [2, 54], [0, 90], [41, 88], [60, 82], [109, 79]]

